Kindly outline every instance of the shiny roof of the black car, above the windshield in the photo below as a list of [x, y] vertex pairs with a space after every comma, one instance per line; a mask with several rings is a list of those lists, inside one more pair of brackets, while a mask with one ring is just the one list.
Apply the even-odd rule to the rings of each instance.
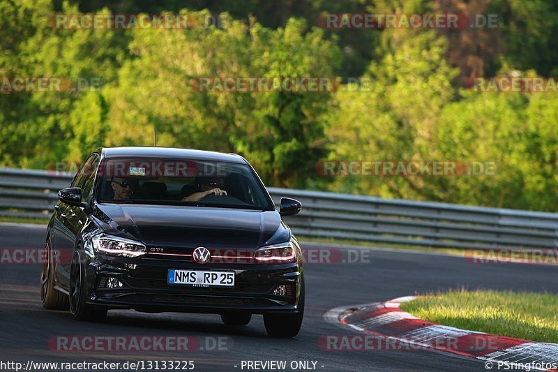
[[247, 163], [242, 156], [236, 154], [195, 149], [179, 149], [176, 147], [104, 147], [101, 151], [105, 158], [189, 158], [202, 161]]

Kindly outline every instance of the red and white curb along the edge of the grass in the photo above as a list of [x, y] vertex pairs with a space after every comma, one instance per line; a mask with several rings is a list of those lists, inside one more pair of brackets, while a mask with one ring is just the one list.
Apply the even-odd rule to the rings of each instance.
[[[531, 371], [557, 371], [558, 344], [537, 343], [437, 325], [402, 311], [400, 303], [416, 299], [399, 297], [389, 302], [333, 308], [324, 320], [398, 343], [449, 352], [485, 361], [485, 368], [525, 367]], [[513, 367], [511, 367], [513, 369]]]

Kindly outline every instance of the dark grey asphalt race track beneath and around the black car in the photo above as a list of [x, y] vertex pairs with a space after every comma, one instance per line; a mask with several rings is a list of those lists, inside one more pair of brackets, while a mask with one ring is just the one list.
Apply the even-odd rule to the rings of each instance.
[[[41, 248], [44, 241], [44, 228], [0, 225], [0, 248]], [[243, 360], [286, 360], [287, 367], [292, 361], [314, 361], [318, 371], [486, 371], [481, 361], [428, 350], [322, 350], [318, 345], [321, 336], [355, 334], [329, 324], [323, 315], [338, 306], [383, 302], [462, 286], [558, 292], [556, 267], [474, 265], [464, 258], [424, 253], [371, 251], [370, 262], [306, 265], [305, 270], [306, 313], [301, 333], [293, 339], [278, 339], [267, 336], [261, 315], [252, 318], [246, 327], [225, 326], [218, 315], [135, 311], [110, 311], [107, 320], [100, 324], [77, 322], [68, 312], [43, 310], [40, 265], [3, 263], [0, 267], [0, 360], [24, 365], [29, 360], [193, 360], [195, 371], [248, 371], [246, 366], [241, 369]], [[177, 334], [197, 336], [200, 340], [225, 337], [227, 350], [107, 353], [60, 352], [49, 348], [50, 338], [59, 335]]]

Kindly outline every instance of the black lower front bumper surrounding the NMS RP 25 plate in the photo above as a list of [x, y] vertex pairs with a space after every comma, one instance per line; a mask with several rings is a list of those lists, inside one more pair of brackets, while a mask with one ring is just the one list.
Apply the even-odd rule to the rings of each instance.
[[[208, 263], [160, 258], [123, 258], [96, 254], [86, 262], [88, 303], [137, 311], [188, 313], [296, 313], [302, 282], [301, 262], [266, 265]], [[195, 288], [167, 284], [169, 269], [234, 271], [234, 288]], [[107, 288], [117, 278], [123, 287]], [[278, 285], [291, 294], [273, 295]]]

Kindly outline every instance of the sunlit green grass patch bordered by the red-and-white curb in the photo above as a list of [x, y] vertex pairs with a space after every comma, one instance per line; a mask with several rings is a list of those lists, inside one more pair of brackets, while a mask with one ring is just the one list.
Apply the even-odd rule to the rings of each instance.
[[558, 343], [558, 295], [458, 290], [415, 299], [401, 308], [440, 325]]

